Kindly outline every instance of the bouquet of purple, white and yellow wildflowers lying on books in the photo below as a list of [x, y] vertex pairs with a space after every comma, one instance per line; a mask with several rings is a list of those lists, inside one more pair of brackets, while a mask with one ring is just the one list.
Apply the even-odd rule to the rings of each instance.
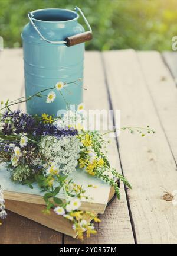
[[[46, 103], [55, 100], [54, 89], [63, 95], [61, 89], [65, 85], [58, 82], [54, 88], [50, 88]], [[88, 217], [96, 222], [100, 220], [93, 213], [80, 210], [81, 199], [88, 199], [85, 195], [87, 188], [68, 180], [68, 175], [80, 168], [112, 186], [118, 198], [120, 194], [117, 179], [122, 180], [127, 187], [131, 186], [122, 174], [110, 167], [104, 153], [107, 141], [100, 132], [83, 129], [83, 104], [78, 105], [76, 111], [68, 108], [57, 117], [47, 113], [31, 116], [20, 110], [11, 111], [11, 105], [32, 100], [33, 97], [42, 97], [47, 90], [16, 101], [8, 100], [1, 108], [0, 163], [5, 163], [12, 182], [29, 185], [31, 188], [33, 183], [37, 183], [45, 192], [45, 213], [50, 213], [53, 209], [57, 215], [71, 220], [78, 237], [83, 239], [85, 231], [87, 236], [96, 233], [93, 223], [87, 221]], [[132, 127], [123, 129], [132, 131]], [[153, 132], [149, 128], [146, 130]], [[89, 187], [91, 186], [90, 184]], [[60, 191], [65, 193], [64, 201], [57, 197]], [[6, 217], [1, 190], [0, 217]]]

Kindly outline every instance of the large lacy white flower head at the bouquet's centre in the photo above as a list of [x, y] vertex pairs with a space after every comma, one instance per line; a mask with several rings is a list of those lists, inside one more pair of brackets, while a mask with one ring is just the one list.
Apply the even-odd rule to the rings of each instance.
[[76, 171], [77, 159], [80, 153], [80, 141], [76, 136], [66, 136], [56, 139], [54, 136], [44, 136], [40, 142], [40, 152], [47, 161], [53, 162], [63, 174]]

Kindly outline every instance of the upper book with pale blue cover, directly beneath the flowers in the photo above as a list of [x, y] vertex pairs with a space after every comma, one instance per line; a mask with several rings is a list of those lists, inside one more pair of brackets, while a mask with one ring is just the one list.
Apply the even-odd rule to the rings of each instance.
[[[110, 186], [96, 177], [92, 177], [84, 170], [77, 170], [68, 177], [68, 180], [73, 178], [73, 181], [78, 185], [92, 184], [96, 188], [87, 188], [86, 196], [89, 200], [82, 200], [81, 210], [93, 211], [95, 213], [104, 213], [106, 205], [109, 200]], [[40, 191], [37, 184], [34, 184], [34, 188], [31, 189], [27, 185], [19, 183], [13, 183], [10, 179], [10, 174], [6, 171], [4, 165], [0, 165], [0, 184], [4, 190], [4, 198], [8, 200], [21, 201], [24, 203], [41, 204], [44, 205], [43, 199], [44, 193]], [[65, 196], [62, 191], [57, 195], [58, 198], [65, 200]]]

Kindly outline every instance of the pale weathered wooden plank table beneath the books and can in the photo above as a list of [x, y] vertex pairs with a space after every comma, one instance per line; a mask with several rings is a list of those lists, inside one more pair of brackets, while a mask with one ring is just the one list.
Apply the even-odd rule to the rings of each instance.
[[[177, 56], [175, 53], [86, 52], [87, 108], [120, 109], [122, 126], [149, 125], [155, 135], [122, 132], [110, 157], [132, 184], [114, 200], [84, 244], [176, 244], [177, 206], [161, 197], [177, 190]], [[24, 94], [21, 49], [0, 54], [1, 99]], [[0, 99], [0, 100], [1, 100]], [[8, 212], [0, 244], [79, 244], [61, 233]]]

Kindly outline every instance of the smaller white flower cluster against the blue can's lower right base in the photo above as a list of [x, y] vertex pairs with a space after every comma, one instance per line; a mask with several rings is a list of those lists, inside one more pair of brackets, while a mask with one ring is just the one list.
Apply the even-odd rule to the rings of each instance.
[[61, 119], [55, 120], [54, 124], [58, 130], [66, 129], [66, 127], [74, 127], [78, 129], [83, 123], [83, 114], [78, 111], [68, 110], [63, 114]]

